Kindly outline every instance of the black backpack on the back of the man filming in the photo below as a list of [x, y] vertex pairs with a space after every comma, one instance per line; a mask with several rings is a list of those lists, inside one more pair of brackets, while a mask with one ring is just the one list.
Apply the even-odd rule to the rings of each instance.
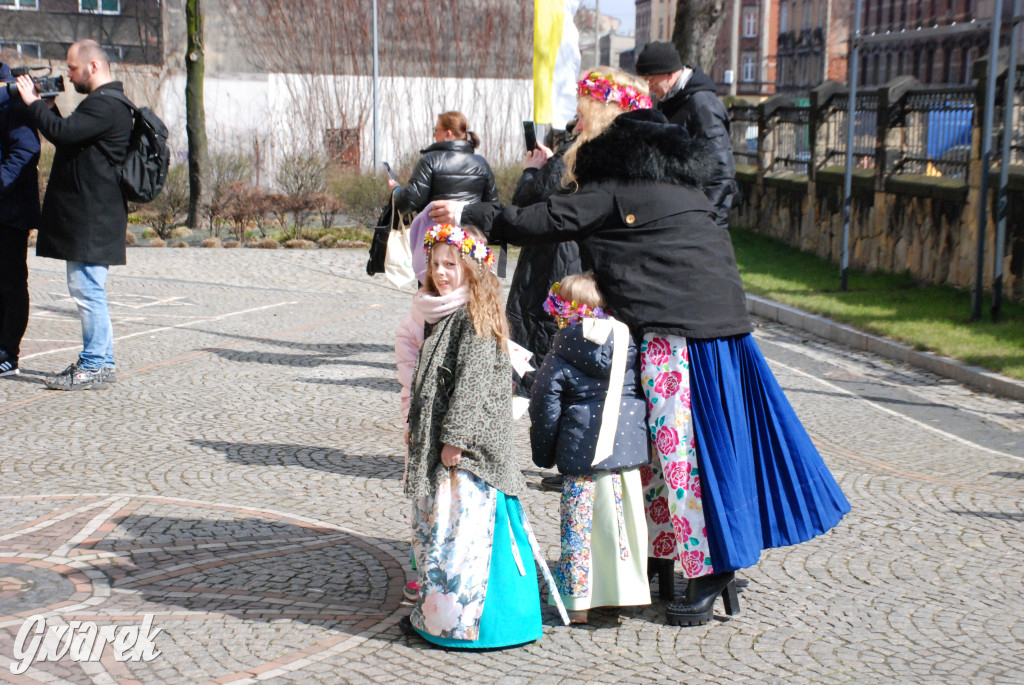
[[125, 200], [150, 202], [164, 189], [171, 151], [167, 147], [167, 126], [150, 108], [137, 108], [123, 93], [103, 90], [103, 94], [123, 102], [132, 113], [131, 142], [124, 164], [118, 169], [118, 182]]

